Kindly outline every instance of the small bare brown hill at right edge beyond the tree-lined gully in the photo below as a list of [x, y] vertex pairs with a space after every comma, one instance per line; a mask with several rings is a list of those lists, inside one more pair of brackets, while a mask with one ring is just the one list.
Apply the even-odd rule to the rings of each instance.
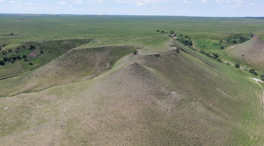
[[239, 62], [264, 72], [264, 41], [259, 37], [254, 37], [245, 43], [233, 46], [226, 50], [226, 53]]

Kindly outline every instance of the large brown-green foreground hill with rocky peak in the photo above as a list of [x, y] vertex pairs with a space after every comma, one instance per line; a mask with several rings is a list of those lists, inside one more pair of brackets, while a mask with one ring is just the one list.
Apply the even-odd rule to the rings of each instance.
[[174, 50], [127, 55], [94, 79], [0, 98], [0, 144], [263, 145], [261, 88], [203, 61], [218, 68]]

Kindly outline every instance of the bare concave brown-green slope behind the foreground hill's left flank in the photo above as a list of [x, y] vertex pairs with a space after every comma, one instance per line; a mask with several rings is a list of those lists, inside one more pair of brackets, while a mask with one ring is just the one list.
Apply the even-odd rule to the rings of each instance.
[[1, 80], [0, 86], [5, 90], [0, 91], [0, 95], [39, 91], [52, 86], [91, 79], [110, 70], [118, 59], [133, 53], [136, 49], [138, 48], [133, 46], [72, 49], [33, 72]]

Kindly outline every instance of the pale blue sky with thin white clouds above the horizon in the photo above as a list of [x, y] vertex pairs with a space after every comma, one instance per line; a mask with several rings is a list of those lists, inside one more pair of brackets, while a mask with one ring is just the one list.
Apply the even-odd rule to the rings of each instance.
[[264, 0], [0, 0], [0, 13], [264, 17]]

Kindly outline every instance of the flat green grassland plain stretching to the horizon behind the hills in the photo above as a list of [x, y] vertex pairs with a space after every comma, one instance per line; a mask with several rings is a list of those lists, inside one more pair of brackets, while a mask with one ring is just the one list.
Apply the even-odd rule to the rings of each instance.
[[[161, 46], [168, 39], [155, 30], [184, 34], [193, 39], [224, 39], [237, 33], [264, 38], [258, 18], [205, 18], [172, 16], [9, 16], [0, 15], [0, 43], [25, 40], [94, 38], [101, 45]], [[14, 33], [16, 36], [7, 36]]]

